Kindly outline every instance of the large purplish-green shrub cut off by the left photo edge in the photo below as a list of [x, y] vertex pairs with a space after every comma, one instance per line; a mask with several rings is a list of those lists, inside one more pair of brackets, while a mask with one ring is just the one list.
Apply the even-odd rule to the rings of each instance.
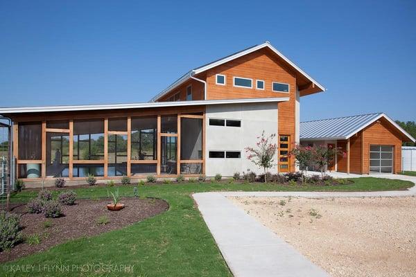
[[19, 215], [0, 211], [0, 251], [14, 247], [21, 239]]

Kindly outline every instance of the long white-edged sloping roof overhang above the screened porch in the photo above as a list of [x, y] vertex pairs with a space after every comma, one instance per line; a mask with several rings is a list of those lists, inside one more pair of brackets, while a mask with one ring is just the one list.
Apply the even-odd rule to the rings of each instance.
[[248, 104], [263, 102], [285, 102], [288, 97], [280, 98], [245, 98], [245, 99], [224, 99], [224, 100], [194, 100], [176, 102], [146, 102], [130, 104], [104, 104], [104, 105], [76, 105], [76, 106], [43, 106], [43, 107], [4, 107], [0, 108], [0, 114], [28, 114], [37, 112], [54, 111], [96, 111], [110, 109], [148, 109], [157, 107], [186, 107], [198, 105], [224, 105], [224, 104]]

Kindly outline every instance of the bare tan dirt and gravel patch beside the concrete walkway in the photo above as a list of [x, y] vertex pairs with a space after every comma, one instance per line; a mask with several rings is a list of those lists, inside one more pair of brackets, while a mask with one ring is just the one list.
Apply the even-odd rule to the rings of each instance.
[[331, 276], [415, 276], [416, 197], [230, 197]]

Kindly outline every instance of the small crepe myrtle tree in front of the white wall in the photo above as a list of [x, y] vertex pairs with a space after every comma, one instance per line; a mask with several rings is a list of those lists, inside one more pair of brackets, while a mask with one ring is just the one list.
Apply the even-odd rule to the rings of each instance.
[[267, 183], [267, 172], [269, 168], [275, 165], [275, 154], [277, 144], [275, 143], [276, 134], [266, 136], [265, 132], [261, 132], [261, 136], [257, 136], [259, 140], [256, 147], [246, 147], [245, 152], [248, 154], [247, 159], [259, 168], [263, 168], [264, 182]]

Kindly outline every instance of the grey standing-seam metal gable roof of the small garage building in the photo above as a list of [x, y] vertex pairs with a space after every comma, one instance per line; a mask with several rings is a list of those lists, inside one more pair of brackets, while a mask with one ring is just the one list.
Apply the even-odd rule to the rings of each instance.
[[379, 118], [385, 118], [410, 141], [415, 142], [413, 136], [410, 136], [394, 120], [383, 113], [361, 114], [358, 116], [345, 116], [340, 118], [328, 118], [322, 120], [305, 121], [300, 123], [300, 139], [319, 141], [325, 139], [349, 139], [357, 132], [371, 125]]

